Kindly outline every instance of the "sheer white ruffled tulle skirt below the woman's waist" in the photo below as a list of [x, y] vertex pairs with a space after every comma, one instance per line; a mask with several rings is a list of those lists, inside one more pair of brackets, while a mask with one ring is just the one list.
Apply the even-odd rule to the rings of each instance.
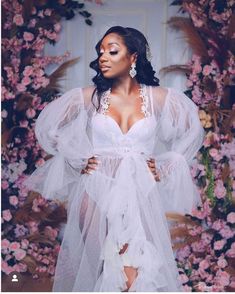
[[[53, 291], [121, 292], [124, 266], [137, 269], [130, 292], [183, 291], [165, 218], [166, 184], [155, 182], [143, 156], [99, 160], [92, 175], [70, 184]], [[187, 164], [178, 169], [177, 160], [178, 177], [185, 176]]]

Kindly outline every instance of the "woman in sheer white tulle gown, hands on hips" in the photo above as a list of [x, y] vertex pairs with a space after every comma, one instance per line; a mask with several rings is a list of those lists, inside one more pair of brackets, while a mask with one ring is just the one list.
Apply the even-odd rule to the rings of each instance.
[[182, 291], [165, 212], [200, 203], [189, 171], [203, 140], [197, 107], [159, 86], [136, 29], [110, 28], [96, 51], [95, 86], [36, 122], [54, 157], [27, 185], [68, 201], [53, 291]]

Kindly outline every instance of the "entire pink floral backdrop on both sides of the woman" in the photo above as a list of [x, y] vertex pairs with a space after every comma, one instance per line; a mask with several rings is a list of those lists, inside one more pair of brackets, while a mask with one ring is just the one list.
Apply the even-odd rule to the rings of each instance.
[[[101, 1], [95, 1], [101, 4]], [[187, 17], [169, 25], [184, 31], [192, 46], [186, 65], [186, 94], [199, 106], [206, 130], [192, 167], [203, 206], [186, 217], [169, 214], [171, 234], [186, 291], [234, 291], [234, 0], [176, 0]], [[66, 221], [63, 205], [25, 190], [22, 182], [49, 158], [34, 135], [35, 120], [60, 95], [59, 80], [78, 62], [44, 56], [46, 42], [58, 41], [60, 20], [92, 16], [79, 1], [2, 1], [2, 272], [52, 277]], [[84, 24], [85, 25], [85, 24]], [[45, 68], [58, 64], [50, 76]]]

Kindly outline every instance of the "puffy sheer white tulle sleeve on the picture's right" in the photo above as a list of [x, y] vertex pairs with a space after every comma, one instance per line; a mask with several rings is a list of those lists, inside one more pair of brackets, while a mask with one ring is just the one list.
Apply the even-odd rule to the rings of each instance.
[[155, 156], [165, 210], [190, 213], [201, 204], [190, 173], [204, 138], [198, 107], [173, 88], [153, 89], [153, 100], [158, 120]]

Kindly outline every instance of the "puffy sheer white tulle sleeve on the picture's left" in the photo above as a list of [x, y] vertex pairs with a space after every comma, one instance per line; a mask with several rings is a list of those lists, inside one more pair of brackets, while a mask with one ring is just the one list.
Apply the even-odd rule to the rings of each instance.
[[36, 120], [40, 146], [53, 157], [37, 168], [24, 184], [47, 199], [66, 200], [70, 186], [79, 180], [92, 144], [86, 132], [84, 92], [75, 88], [49, 103]]

